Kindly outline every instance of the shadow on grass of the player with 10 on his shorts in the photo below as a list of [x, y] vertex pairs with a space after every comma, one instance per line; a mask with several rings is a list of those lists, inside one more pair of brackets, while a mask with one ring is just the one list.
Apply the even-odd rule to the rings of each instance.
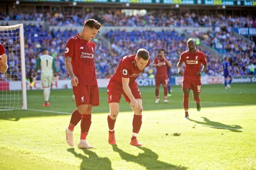
[[206, 117], [201, 117], [201, 118], [204, 119], [204, 122], [199, 122], [199, 121], [196, 121], [196, 120], [193, 120], [193, 119], [189, 119], [189, 120], [192, 121], [192, 122], [196, 122], [198, 124], [201, 124], [201, 125], [206, 125], [207, 127], [215, 128], [215, 129], [228, 129], [232, 132], [242, 132], [241, 130], [238, 130], [238, 129], [242, 129], [242, 127], [239, 126], [239, 125], [225, 125], [225, 124], [220, 123], [220, 122], [210, 121]]

